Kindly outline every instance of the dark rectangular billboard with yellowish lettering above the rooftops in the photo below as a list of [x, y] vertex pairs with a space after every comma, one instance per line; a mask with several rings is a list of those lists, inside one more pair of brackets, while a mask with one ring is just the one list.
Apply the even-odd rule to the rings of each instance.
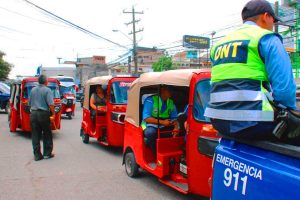
[[184, 35], [183, 46], [193, 49], [208, 49], [210, 46], [210, 39], [206, 37]]

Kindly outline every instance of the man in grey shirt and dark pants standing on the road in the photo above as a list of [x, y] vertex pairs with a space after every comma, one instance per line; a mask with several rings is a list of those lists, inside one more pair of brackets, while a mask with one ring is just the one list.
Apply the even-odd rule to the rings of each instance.
[[[47, 87], [48, 80], [45, 75], [40, 75], [38, 82], [39, 85], [32, 89], [29, 97], [32, 148], [35, 161], [54, 157], [50, 122], [50, 120], [55, 119], [53, 95]], [[42, 136], [44, 156], [41, 154], [40, 147]]]

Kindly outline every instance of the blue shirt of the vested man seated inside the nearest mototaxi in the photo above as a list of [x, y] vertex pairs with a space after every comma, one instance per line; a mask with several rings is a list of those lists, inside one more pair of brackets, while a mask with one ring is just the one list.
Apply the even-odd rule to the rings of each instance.
[[[167, 104], [163, 100], [162, 100], [162, 102], [163, 102], [163, 104], [161, 107], [161, 111], [164, 112], [167, 109]], [[149, 117], [152, 117], [152, 109], [153, 109], [153, 99], [152, 99], [152, 96], [150, 96], [150, 97], [147, 97], [144, 102], [143, 120], [145, 120]], [[177, 119], [177, 109], [176, 109], [175, 105], [174, 105], [172, 112], [170, 113], [170, 119]], [[148, 125], [157, 127], [156, 124], [148, 124], [147, 123], [147, 126]]]

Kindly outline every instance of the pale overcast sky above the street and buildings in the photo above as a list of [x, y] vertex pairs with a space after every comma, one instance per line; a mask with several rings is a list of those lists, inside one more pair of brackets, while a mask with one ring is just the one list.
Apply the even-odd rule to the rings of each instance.
[[[203, 35], [232, 24], [241, 23], [240, 13], [248, 0], [30, 0], [83, 28], [118, 44], [132, 47], [128, 34], [135, 6], [141, 21], [137, 29], [139, 46], [166, 48], [178, 45], [183, 35]], [[271, 0], [270, 2], [274, 2]], [[121, 32], [112, 32], [118, 29]], [[217, 32], [218, 35], [218, 32]], [[217, 36], [216, 35], [216, 36]], [[206, 35], [203, 35], [206, 36]], [[129, 37], [132, 37], [131, 35]], [[37, 66], [75, 60], [76, 57], [106, 56], [107, 62], [128, 50], [96, 39], [71, 28], [25, 3], [23, 0], [0, 0], [0, 50], [14, 68], [10, 74], [34, 75]]]

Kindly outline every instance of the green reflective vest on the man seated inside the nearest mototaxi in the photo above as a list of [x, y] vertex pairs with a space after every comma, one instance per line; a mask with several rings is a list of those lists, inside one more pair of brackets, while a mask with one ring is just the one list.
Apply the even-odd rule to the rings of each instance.
[[[174, 109], [174, 102], [172, 99], [168, 99], [166, 104], [167, 108], [162, 112], [162, 101], [160, 96], [154, 95], [152, 96], [152, 102], [153, 102], [153, 107], [152, 107], [152, 113], [151, 116], [155, 119], [169, 119], [170, 114]], [[157, 127], [156, 124], [153, 124], [154, 126]], [[147, 128], [147, 123], [145, 121], [142, 121], [142, 129], [145, 130]]]

